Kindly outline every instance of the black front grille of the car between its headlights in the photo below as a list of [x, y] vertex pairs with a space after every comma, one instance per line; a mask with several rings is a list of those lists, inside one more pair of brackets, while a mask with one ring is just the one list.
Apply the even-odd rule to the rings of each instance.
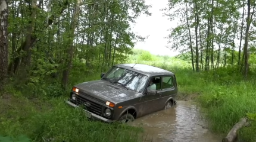
[[[86, 106], [86, 103], [89, 103], [90, 106]], [[77, 95], [76, 104], [84, 106], [87, 111], [93, 112], [93, 114], [97, 114], [99, 116], [102, 115], [103, 106], [96, 102], [93, 102], [92, 99], [87, 99], [80, 95]]]

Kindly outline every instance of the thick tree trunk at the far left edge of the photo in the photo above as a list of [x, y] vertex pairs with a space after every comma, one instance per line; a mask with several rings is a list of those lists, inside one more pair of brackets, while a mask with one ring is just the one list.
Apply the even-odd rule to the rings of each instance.
[[8, 72], [8, 4], [0, 0], [0, 91], [2, 90]]

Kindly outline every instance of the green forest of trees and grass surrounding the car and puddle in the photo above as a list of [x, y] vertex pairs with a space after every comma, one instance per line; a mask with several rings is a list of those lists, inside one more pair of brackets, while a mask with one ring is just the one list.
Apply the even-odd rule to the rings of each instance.
[[194, 99], [211, 131], [247, 117], [239, 140], [255, 141], [255, 5], [168, 1], [160, 11], [178, 24], [160, 36], [182, 53], [170, 57], [133, 49], [146, 40], [131, 30], [151, 15], [145, 0], [0, 0], [0, 141], [141, 141], [141, 128], [88, 121], [64, 104], [73, 85], [118, 63], [174, 72], [179, 99]]

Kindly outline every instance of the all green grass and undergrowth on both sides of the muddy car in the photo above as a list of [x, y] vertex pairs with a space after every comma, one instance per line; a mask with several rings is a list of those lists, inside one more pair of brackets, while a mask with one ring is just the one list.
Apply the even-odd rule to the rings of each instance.
[[[132, 62], [129, 62], [132, 63]], [[179, 95], [198, 94], [196, 101], [205, 112], [210, 129], [227, 134], [242, 117], [256, 113], [255, 76], [242, 81], [240, 73], [231, 67], [210, 72], [195, 73], [187, 62], [166, 60], [164, 62], [138, 62], [174, 72]], [[80, 66], [79, 64], [77, 66]], [[71, 70], [72, 85], [99, 79], [100, 73], [83, 73]], [[17, 87], [16, 87], [17, 88]], [[60, 89], [60, 83], [40, 82], [20, 89], [5, 87], [0, 99], [0, 141], [16, 138], [28, 141], [140, 141], [140, 128], [120, 124], [89, 121], [81, 110], [64, 104], [68, 90]], [[20, 90], [20, 91], [18, 91]], [[12, 98], [10, 98], [12, 97]], [[255, 141], [256, 122], [239, 131], [243, 141]]]

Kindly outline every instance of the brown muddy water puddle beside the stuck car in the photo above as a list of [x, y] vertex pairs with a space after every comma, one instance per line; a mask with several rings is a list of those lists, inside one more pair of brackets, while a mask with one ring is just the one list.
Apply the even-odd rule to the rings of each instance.
[[143, 141], [156, 142], [217, 142], [219, 135], [207, 130], [196, 105], [190, 101], [177, 101], [173, 108], [138, 118], [131, 123], [145, 130]]

